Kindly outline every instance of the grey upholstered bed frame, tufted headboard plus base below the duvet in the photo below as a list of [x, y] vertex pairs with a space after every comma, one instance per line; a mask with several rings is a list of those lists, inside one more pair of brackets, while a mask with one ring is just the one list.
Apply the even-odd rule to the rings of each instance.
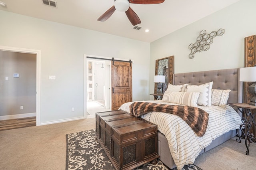
[[[239, 81], [239, 69], [220, 69], [212, 71], [199, 71], [191, 73], [177, 73], [173, 75], [174, 85], [182, 84], [193, 84], [200, 85], [213, 81], [212, 89], [230, 89], [228, 103], [242, 103], [242, 82]], [[238, 112], [240, 116], [242, 113]], [[223, 142], [229, 140], [230, 138], [236, 136], [236, 130], [231, 130], [219, 136], [212, 143], [204, 148], [200, 154], [222, 144]], [[175, 168], [176, 165], [172, 159], [170, 149], [166, 137], [158, 132], [158, 154], [160, 155], [160, 160], [166, 164], [169, 168]]]

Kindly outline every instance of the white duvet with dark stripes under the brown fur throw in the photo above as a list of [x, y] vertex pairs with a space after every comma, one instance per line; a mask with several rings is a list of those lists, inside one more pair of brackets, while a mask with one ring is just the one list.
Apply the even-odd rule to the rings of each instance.
[[[145, 101], [159, 104], [177, 105], [174, 103], [158, 101]], [[124, 103], [119, 109], [130, 113], [129, 105], [133, 102]], [[241, 117], [232, 107], [226, 109], [218, 106], [198, 106], [209, 113], [209, 121], [204, 136], [199, 137], [180, 117], [170, 113], [150, 112], [141, 118], [158, 126], [158, 130], [168, 140], [170, 152], [178, 170], [184, 165], [193, 164], [194, 160], [212, 140], [222, 134], [240, 127]]]

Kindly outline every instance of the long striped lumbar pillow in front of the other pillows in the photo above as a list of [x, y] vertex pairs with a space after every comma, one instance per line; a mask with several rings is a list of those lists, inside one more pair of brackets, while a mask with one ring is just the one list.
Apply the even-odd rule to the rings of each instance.
[[164, 102], [176, 103], [179, 105], [186, 105], [197, 107], [197, 100], [199, 97], [199, 92], [176, 92], [176, 91], [165, 91], [163, 96]]

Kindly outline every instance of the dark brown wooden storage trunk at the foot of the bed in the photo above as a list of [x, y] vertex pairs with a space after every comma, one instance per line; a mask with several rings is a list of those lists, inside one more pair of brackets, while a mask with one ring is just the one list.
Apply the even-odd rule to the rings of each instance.
[[116, 170], [158, 158], [157, 125], [122, 110], [96, 113], [96, 137]]

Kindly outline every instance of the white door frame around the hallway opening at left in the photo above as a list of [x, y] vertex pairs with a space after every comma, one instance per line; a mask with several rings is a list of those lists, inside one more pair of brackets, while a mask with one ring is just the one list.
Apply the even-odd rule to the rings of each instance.
[[41, 50], [0, 45], [2, 51], [36, 54], [36, 126], [41, 125]]

